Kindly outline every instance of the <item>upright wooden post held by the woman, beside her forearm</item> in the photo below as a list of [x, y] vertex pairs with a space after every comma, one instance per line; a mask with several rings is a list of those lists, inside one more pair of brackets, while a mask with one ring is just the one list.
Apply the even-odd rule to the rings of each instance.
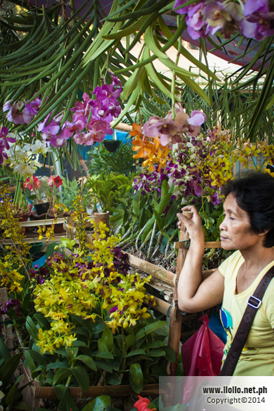
[[[184, 211], [184, 216], [191, 219], [192, 212]], [[179, 234], [179, 241], [189, 240], [188, 232], [186, 231], [186, 227], [181, 227], [180, 234]], [[186, 249], [178, 249], [178, 257], [177, 257], [177, 267], [176, 267], [176, 275], [179, 279], [179, 275], [182, 271], [184, 266], [184, 262], [186, 260]], [[174, 290], [173, 295], [173, 305], [177, 307], [177, 288]], [[175, 352], [175, 362], [171, 362], [170, 370], [168, 370], [168, 374], [170, 376], [175, 376], [177, 374], [177, 361], [178, 361], [178, 354], [179, 354], [179, 341], [181, 338], [181, 329], [182, 329], [182, 314], [179, 313], [179, 310], [176, 311], [176, 320], [170, 320], [169, 325], [169, 347], [171, 347]]]

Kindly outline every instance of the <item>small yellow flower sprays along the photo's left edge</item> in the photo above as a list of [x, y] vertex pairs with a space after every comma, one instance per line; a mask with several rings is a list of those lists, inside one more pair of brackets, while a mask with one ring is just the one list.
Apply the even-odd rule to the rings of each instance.
[[5, 286], [9, 291], [21, 292], [21, 283], [29, 272], [27, 269], [29, 258], [29, 244], [23, 241], [24, 232], [19, 220], [13, 214], [13, 204], [9, 191], [5, 188], [0, 190], [0, 228], [1, 237], [5, 245], [5, 240], [11, 245], [5, 245], [5, 257], [0, 261], [1, 286]]

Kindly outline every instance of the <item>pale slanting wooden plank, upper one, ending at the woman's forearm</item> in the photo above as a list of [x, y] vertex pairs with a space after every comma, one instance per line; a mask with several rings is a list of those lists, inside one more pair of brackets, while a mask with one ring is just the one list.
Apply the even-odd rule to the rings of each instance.
[[156, 266], [155, 264], [151, 264], [151, 262], [142, 260], [142, 258], [138, 258], [136, 256], [132, 256], [132, 254], [125, 253], [129, 257], [129, 264], [132, 265], [135, 269], [141, 270], [143, 273], [147, 273], [149, 275], [153, 275], [158, 279], [162, 279], [162, 281], [166, 282], [167, 284], [171, 284], [172, 286], [176, 285], [177, 282], [177, 275], [171, 273], [171, 271], [167, 271], [160, 266]]

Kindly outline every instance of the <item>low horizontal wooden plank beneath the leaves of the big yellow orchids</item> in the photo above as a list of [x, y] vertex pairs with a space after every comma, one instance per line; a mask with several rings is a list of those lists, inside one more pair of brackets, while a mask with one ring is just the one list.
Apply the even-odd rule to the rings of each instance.
[[[69, 387], [73, 398], [88, 398], [99, 397], [99, 395], [109, 395], [110, 397], [128, 397], [129, 395], [136, 395], [132, 386], [90, 386], [88, 390], [84, 392], [79, 387]], [[142, 388], [141, 396], [145, 395], [160, 395], [164, 394], [164, 390], [160, 390], [158, 384], [145, 384]], [[52, 387], [35, 387], [36, 399], [56, 399], [55, 390]]]

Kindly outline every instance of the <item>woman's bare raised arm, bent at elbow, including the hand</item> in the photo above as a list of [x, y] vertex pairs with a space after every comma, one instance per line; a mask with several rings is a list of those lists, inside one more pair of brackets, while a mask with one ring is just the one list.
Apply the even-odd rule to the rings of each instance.
[[201, 218], [195, 206], [186, 206], [182, 211], [192, 212], [192, 219], [177, 214], [178, 227], [184, 225], [190, 238], [186, 261], [179, 276], [178, 306], [182, 311], [199, 312], [223, 301], [224, 277], [219, 270], [216, 270], [202, 282], [201, 269], [205, 240]]

